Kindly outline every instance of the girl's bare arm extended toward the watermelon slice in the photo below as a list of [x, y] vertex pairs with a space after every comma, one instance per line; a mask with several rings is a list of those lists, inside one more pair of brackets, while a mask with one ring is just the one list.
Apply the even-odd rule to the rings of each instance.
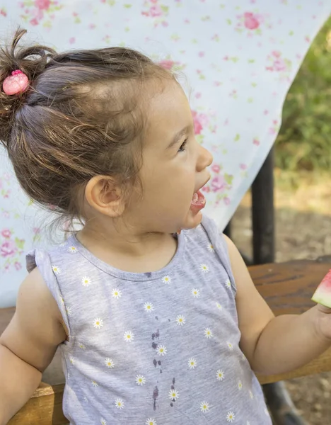
[[331, 346], [331, 309], [316, 305], [303, 314], [274, 317], [257, 292], [238, 249], [226, 237], [233, 276], [240, 348], [255, 372], [276, 375], [296, 369]]

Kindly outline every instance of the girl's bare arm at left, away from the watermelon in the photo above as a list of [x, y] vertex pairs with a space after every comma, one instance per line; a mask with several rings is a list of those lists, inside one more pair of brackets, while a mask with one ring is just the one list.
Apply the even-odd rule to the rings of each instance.
[[28, 402], [65, 339], [57, 303], [35, 268], [22, 283], [14, 317], [0, 336], [0, 425]]

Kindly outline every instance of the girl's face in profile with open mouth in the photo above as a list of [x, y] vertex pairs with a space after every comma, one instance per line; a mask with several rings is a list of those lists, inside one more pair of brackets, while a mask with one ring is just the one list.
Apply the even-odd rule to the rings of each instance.
[[144, 232], [197, 227], [204, 198], [196, 193], [210, 178], [207, 166], [213, 158], [195, 140], [190, 106], [178, 84], [167, 82], [151, 98], [147, 120], [142, 196], [133, 196], [128, 205], [130, 222]]

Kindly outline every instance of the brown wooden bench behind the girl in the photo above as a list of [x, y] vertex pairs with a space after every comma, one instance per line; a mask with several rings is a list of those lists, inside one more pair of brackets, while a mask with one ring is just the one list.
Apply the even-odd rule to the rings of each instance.
[[[290, 261], [250, 266], [250, 274], [274, 314], [300, 314], [312, 307], [310, 300], [330, 268], [331, 256], [318, 261]], [[14, 308], [0, 310], [0, 334], [13, 316]], [[258, 376], [262, 384], [331, 370], [331, 348], [322, 356], [290, 373]], [[9, 425], [64, 425], [62, 413], [64, 375], [57, 354], [45, 370], [42, 384]]]

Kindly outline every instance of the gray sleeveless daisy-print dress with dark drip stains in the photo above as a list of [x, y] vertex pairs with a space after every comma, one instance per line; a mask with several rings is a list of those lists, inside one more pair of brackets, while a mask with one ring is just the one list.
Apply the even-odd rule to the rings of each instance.
[[27, 257], [57, 301], [71, 425], [271, 425], [238, 346], [236, 284], [216, 224], [178, 236], [160, 271], [128, 273], [74, 235]]

